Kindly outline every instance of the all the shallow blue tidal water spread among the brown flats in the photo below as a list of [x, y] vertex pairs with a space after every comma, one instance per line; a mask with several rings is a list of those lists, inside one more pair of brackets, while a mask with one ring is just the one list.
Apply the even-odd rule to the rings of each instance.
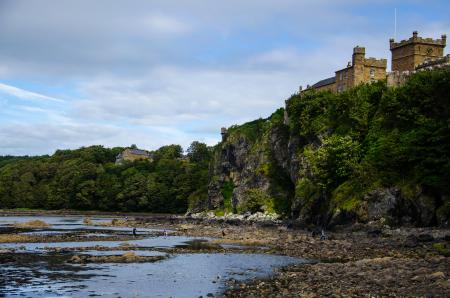
[[[0, 226], [13, 222], [40, 219], [51, 224], [50, 229], [37, 232], [61, 231], [89, 235], [92, 226], [83, 224], [83, 217], [0, 217]], [[102, 218], [102, 221], [105, 219]], [[61, 228], [64, 226], [65, 228]], [[100, 227], [101, 228], [101, 227]], [[81, 230], [81, 232], [80, 232]], [[123, 230], [123, 229], [122, 229]], [[109, 227], [101, 233], [118, 235], [122, 230]], [[128, 229], [129, 230], [129, 229]], [[153, 230], [148, 229], [149, 233]], [[304, 262], [299, 258], [267, 254], [246, 253], [189, 253], [166, 254], [154, 251], [158, 248], [199, 248], [207, 245], [211, 238], [185, 236], [155, 236], [131, 241], [87, 241], [53, 243], [8, 243], [2, 248], [19, 249], [25, 261], [0, 266], [1, 297], [206, 297], [208, 293], [220, 293], [230, 278], [248, 280], [268, 277], [273, 269], [293, 263]], [[133, 250], [121, 250], [123, 243], [139, 246]], [[48, 248], [81, 248], [96, 245], [111, 250], [95, 248], [82, 252], [55, 253]], [[225, 245], [224, 245], [225, 246]], [[235, 246], [242, 248], [246, 247]], [[132, 251], [139, 256], [167, 256], [153, 263], [104, 263], [72, 264], [67, 261], [75, 254], [96, 256], [121, 255]]]

